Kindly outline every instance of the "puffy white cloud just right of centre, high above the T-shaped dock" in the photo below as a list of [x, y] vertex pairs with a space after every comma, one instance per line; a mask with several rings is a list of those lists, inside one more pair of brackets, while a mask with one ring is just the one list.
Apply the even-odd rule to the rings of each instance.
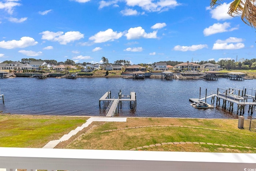
[[146, 39], [155, 39], [157, 31], [153, 31], [152, 33], [146, 33], [142, 27], [130, 28], [128, 33], [125, 34], [128, 40], [130, 39], [139, 39], [139, 38], [146, 38]]

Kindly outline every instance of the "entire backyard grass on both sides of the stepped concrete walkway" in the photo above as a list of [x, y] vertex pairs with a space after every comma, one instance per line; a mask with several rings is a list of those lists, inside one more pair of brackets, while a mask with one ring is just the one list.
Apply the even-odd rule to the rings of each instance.
[[[0, 116], [0, 146], [40, 148], [81, 126], [87, 119], [79, 116]], [[127, 122], [92, 122], [56, 148], [130, 150], [157, 143], [203, 142], [220, 145], [168, 144], [140, 150], [256, 153], [256, 132], [238, 129], [237, 124], [238, 120], [234, 119], [192, 118], [127, 118]], [[139, 128], [142, 126], [151, 127]]]

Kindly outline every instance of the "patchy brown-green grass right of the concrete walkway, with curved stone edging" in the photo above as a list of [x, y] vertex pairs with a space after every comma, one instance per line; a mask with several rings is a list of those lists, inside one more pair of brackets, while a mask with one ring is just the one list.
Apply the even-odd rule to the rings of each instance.
[[[142, 150], [154, 151], [200, 151], [200, 152], [236, 152], [255, 153], [255, 132], [237, 128], [238, 120], [221, 119], [176, 119], [176, 118], [128, 118], [126, 123], [94, 122], [88, 128], [57, 148], [70, 149], [113, 149], [129, 150], [144, 145], [167, 142], [205, 142], [241, 147], [223, 147], [207, 144], [162, 145]], [[162, 127], [191, 126], [199, 128]], [[133, 128], [104, 132], [138, 126], [157, 126]], [[218, 129], [209, 130], [202, 128]], [[226, 132], [231, 131], [231, 132]], [[252, 147], [247, 149], [244, 147]]]

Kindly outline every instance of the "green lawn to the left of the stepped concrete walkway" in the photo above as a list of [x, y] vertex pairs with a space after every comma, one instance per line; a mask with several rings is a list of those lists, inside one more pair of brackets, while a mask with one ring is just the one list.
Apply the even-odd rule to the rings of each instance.
[[43, 147], [81, 126], [86, 117], [0, 116], [0, 147]]

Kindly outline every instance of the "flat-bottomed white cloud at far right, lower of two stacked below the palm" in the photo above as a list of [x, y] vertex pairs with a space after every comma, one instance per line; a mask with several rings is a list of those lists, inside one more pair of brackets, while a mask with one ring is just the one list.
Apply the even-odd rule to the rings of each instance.
[[229, 37], [226, 40], [216, 40], [212, 49], [221, 50], [221, 49], [242, 49], [244, 48], [244, 43], [240, 43], [243, 40], [241, 38]]

